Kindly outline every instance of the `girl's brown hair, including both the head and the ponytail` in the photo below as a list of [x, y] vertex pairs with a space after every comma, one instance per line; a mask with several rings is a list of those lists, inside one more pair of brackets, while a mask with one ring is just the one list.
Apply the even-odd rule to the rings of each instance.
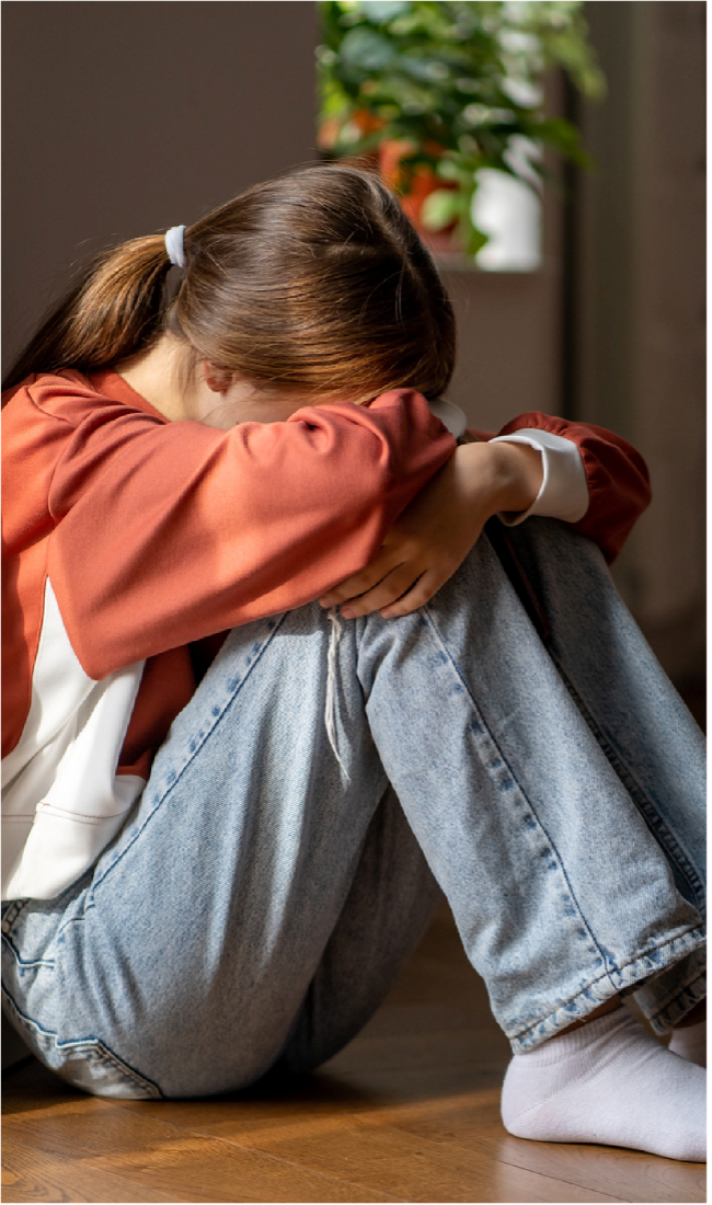
[[2, 388], [31, 372], [87, 371], [169, 331], [257, 386], [442, 394], [454, 365], [452, 306], [395, 198], [372, 175], [329, 165], [258, 184], [188, 227], [187, 266], [165, 302], [161, 235], [90, 265], [22, 352]]

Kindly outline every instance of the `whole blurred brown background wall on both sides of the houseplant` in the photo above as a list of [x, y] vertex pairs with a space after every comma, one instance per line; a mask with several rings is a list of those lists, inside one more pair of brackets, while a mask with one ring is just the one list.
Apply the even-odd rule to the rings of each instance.
[[[611, 427], [655, 500], [616, 570], [669, 674], [706, 677], [705, 0], [588, 0], [608, 81], [551, 82], [596, 169], [549, 190], [531, 272], [448, 268], [478, 427]], [[312, 0], [1, 0], [5, 370], [71, 265], [316, 158]]]

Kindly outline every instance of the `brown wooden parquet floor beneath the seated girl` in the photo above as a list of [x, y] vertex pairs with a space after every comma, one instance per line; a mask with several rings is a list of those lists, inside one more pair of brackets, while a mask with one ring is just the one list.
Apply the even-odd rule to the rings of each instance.
[[0, 1200], [706, 1201], [706, 1168], [510, 1138], [508, 1047], [445, 910], [319, 1075], [230, 1099], [108, 1101], [29, 1060], [0, 1081]]

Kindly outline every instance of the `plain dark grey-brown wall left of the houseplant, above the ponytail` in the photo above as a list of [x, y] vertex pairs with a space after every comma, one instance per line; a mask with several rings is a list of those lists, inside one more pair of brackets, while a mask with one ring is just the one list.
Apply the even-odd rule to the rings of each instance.
[[2, 0], [1, 347], [69, 265], [314, 158], [312, 0]]

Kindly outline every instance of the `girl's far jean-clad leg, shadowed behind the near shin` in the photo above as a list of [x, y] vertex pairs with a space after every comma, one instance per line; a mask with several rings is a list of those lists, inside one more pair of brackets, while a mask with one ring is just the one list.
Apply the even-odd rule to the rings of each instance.
[[[551, 624], [548, 651], [678, 890], [707, 923], [706, 741], [613, 587], [599, 549], [537, 521], [512, 537]], [[707, 993], [706, 951], [640, 986], [660, 1034]]]

